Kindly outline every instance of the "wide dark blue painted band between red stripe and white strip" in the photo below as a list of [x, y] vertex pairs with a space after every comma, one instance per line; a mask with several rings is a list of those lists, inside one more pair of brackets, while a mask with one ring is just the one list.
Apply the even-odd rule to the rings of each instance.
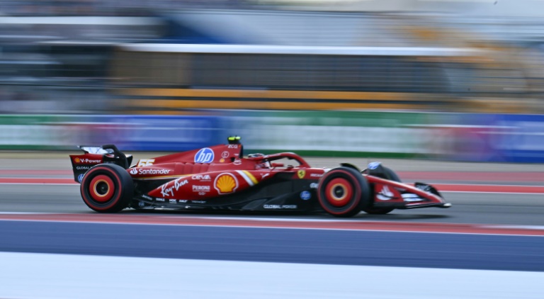
[[8, 221], [0, 234], [1, 252], [544, 271], [530, 236]]

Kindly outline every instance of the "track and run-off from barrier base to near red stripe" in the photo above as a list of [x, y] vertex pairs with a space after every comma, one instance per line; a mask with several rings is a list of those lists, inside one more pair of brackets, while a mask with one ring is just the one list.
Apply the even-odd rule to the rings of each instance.
[[[84, 205], [79, 185], [74, 184], [68, 154], [4, 152], [0, 153], [0, 213], [77, 213], [96, 214]], [[156, 157], [160, 153], [137, 153], [140, 158]], [[340, 162], [352, 162], [363, 168], [370, 159], [308, 158], [314, 167], [335, 167]], [[348, 220], [395, 222], [479, 223], [499, 225], [544, 225], [544, 166], [540, 164], [486, 164], [438, 162], [427, 160], [382, 159], [383, 164], [397, 171], [403, 181], [424, 181], [434, 186], [454, 190], [443, 192], [453, 208], [395, 210], [388, 215], [361, 213]], [[3, 181], [16, 178], [18, 181]], [[28, 184], [16, 184], [28, 180]], [[37, 180], [37, 181], [33, 181]], [[52, 183], [42, 184], [50, 180]], [[32, 184], [35, 182], [36, 184]], [[478, 192], [471, 192], [479, 186]], [[443, 188], [438, 188], [443, 191]], [[533, 193], [531, 188], [536, 188]], [[124, 210], [128, 215], [176, 215], [177, 217], [208, 216], [239, 218], [301, 218], [335, 219], [329, 215], [297, 215], [289, 213], [233, 214], [196, 213], [154, 210], [142, 213]]]

